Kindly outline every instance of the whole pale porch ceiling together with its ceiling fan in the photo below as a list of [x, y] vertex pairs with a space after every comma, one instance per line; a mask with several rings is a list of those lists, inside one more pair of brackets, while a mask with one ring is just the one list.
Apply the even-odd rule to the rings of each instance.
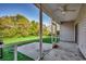
[[71, 22], [76, 20], [81, 5], [79, 3], [42, 3], [42, 10], [56, 22]]

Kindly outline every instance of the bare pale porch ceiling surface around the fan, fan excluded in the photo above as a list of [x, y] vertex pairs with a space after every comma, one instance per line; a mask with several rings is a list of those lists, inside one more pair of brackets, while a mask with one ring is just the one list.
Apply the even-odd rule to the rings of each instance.
[[62, 14], [62, 12], [60, 10], [57, 10], [58, 8], [65, 5], [64, 3], [45, 3], [42, 5], [46, 7], [51, 12], [51, 14], [56, 18], [56, 21], [59, 20], [61, 22], [70, 22], [70, 21], [76, 20], [82, 4], [69, 3], [67, 10], [76, 10], [76, 11], [73, 11], [73, 12], [67, 11], [67, 12], [65, 12], [65, 14]]

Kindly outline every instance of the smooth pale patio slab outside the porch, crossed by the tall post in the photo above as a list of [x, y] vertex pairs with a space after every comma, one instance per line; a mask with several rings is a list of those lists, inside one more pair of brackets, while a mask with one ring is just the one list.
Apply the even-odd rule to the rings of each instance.
[[[44, 55], [48, 53], [51, 50], [51, 48], [52, 48], [51, 43], [42, 43]], [[32, 42], [17, 47], [17, 51], [34, 60], [37, 60], [39, 56], [39, 42]]]

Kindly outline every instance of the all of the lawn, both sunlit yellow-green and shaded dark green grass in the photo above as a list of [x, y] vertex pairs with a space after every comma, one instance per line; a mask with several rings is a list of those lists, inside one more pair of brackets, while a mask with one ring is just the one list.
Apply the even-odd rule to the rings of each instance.
[[[13, 56], [13, 52], [12, 52], [12, 43], [17, 43], [19, 42], [19, 46], [22, 46], [22, 44], [25, 44], [25, 43], [29, 43], [29, 42], [38, 42], [39, 41], [39, 38], [36, 37], [36, 36], [30, 36], [30, 37], [21, 37], [21, 38], [4, 38], [4, 44], [8, 46], [8, 44], [11, 44], [9, 47], [5, 47], [3, 49], [3, 59], [2, 61], [13, 61], [14, 56]], [[21, 42], [24, 42], [24, 41], [27, 41], [27, 42], [24, 42], [24, 43], [21, 43]], [[44, 42], [46, 43], [51, 43], [51, 38], [50, 36], [44, 36], [44, 39], [42, 39]], [[59, 41], [59, 39], [57, 40]], [[34, 61], [33, 59], [17, 52], [17, 61]]]

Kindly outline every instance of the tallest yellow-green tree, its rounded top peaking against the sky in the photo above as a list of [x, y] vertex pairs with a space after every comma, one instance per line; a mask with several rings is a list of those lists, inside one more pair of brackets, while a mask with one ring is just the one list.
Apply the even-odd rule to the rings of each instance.
[[21, 34], [22, 37], [29, 35], [29, 21], [23, 15], [16, 15], [16, 25], [17, 25], [17, 34]]

